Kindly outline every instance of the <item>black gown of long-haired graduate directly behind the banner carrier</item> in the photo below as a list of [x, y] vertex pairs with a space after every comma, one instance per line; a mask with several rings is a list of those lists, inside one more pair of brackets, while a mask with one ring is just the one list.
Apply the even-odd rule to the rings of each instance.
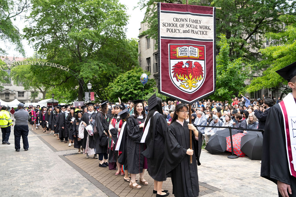
[[168, 123], [163, 115], [156, 113], [153, 116], [152, 136], [150, 131], [146, 137], [147, 149], [142, 154], [147, 158], [148, 173], [156, 181], [165, 181], [165, 133], [168, 131]]

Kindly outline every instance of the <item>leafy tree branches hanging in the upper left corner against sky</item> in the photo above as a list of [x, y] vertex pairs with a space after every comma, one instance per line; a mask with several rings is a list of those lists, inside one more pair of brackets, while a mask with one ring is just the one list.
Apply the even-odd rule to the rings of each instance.
[[[28, 8], [27, 0], [0, 0], [0, 40], [9, 41], [15, 45], [15, 50], [19, 51], [23, 56], [25, 51], [22, 45], [21, 34], [15, 25], [12, 24], [12, 20], [20, 15]], [[0, 54], [5, 54], [6, 51], [0, 47]]]

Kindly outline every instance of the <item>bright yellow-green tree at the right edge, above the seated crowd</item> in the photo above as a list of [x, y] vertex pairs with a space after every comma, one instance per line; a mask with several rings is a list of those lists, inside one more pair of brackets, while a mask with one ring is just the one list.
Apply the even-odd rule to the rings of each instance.
[[271, 45], [261, 49], [264, 59], [257, 65], [262, 70], [262, 76], [252, 79], [251, 84], [247, 86], [247, 92], [255, 92], [262, 88], [272, 88], [290, 92], [287, 81], [284, 80], [275, 71], [279, 70], [296, 61], [296, 16], [284, 15], [280, 17], [281, 22], [287, 26], [278, 33], [267, 33], [265, 36], [271, 41]]

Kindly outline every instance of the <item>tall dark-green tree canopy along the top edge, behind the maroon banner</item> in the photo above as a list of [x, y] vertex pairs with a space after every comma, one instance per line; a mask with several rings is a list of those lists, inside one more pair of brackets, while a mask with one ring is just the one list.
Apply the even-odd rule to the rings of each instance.
[[[149, 35], [157, 41], [157, 5], [155, 0], [140, 0], [139, 6], [145, 9], [145, 18], [148, 30], [142, 35]], [[184, 0], [157, 0], [163, 3], [185, 4]], [[296, 1], [286, 0], [189, 0], [191, 5], [215, 6], [216, 9], [216, 33], [226, 35], [230, 43], [230, 57], [236, 59], [242, 57], [244, 61], [257, 61], [260, 57], [258, 50], [265, 42], [263, 35], [266, 32], [276, 32], [282, 28], [279, 16], [291, 13]]]

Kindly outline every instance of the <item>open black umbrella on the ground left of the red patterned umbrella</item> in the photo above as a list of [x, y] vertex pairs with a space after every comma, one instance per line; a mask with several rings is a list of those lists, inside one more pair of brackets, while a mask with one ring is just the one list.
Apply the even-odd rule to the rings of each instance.
[[218, 134], [211, 136], [209, 142], [205, 146], [205, 149], [210, 154], [225, 152], [226, 148], [226, 138], [224, 136], [219, 136]]

